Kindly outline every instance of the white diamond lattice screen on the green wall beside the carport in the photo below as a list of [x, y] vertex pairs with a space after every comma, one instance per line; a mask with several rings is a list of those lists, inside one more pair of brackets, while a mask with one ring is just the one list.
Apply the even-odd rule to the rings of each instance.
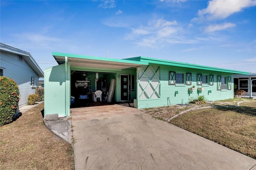
[[160, 98], [160, 67], [143, 65], [138, 71], [139, 99]]

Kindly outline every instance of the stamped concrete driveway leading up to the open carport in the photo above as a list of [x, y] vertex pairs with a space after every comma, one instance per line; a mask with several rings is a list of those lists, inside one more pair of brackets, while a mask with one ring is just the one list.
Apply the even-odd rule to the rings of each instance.
[[120, 105], [70, 109], [76, 170], [256, 170], [256, 160]]

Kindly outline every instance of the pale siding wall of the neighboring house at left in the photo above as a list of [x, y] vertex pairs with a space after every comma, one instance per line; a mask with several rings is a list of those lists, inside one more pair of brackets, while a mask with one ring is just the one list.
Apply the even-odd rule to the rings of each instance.
[[[14, 79], [20, 89], [19, 107], [26, 105], [28, 95], [35, 94], [35, 87], [38, 86], [38, 75], [24, 60], [18, 61], [18, 55], [1, 51], [0, 67], [4, 69], [4, 76]], [[35, 87], [31, 86], [31, 77], [35, 77]]]

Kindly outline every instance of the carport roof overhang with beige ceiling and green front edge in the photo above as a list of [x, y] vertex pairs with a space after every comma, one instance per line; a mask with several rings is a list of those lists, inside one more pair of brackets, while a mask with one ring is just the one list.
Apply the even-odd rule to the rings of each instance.
[[65, 57], [68, 57], [68, 62], [70, 66], [77, 67], [94, 67], [94, 68], [104, 68], [104, 69], [126, 69], [130, 67], [137, 67], [140, 65], [148, 65], [148, 63], [140, 61], [129, 61], [124, 59], [110, 59], [103, 57], [91, 57], [85, 55], [74, 55], [66, 53], [55, 53], [53, 52], [55, 60], [58, 64], [63, 64], [65, 62]]

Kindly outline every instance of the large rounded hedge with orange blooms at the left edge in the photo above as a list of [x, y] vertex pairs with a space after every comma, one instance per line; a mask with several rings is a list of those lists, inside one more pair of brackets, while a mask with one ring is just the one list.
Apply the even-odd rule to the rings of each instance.
[[0, 76], [0, 126], [13, 121], [19, 100], [17, 83], [9, 77]]

